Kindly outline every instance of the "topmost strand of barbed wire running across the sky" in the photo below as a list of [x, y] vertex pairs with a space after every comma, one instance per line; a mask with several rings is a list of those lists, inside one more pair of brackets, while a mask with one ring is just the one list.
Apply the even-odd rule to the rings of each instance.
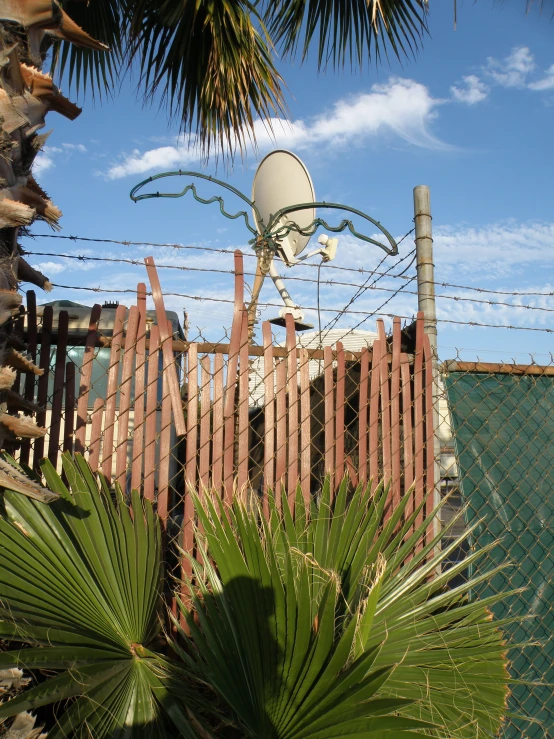
[[[119, 244], [122, 246], [152, 246], [152, 247], [166, 247], [168, 249], [195, 249], [198, 251], [209, 251], [209, 252], [217, 252], [220, 254], [229, 254], [232, 255], [234, 252], [234, 249], [218, 249], [214, 247], [208, 247], [208, 246], [192, 246], [192, 245], [183, 245], [183, 244], [160, 244], [150, 241], [117, 241], [116, 239], [96, 239], [86, 236], [62, 236], [61, 234], [28, 234], [29, 238], [48, 238], [48, 239], [67, 239], [71, 241], [90, 241], [95, 242], [99, 244]], [[40, 252], [29, 252], [30, 254], [39, 254]], [[45, 256], [47, 256], [45, 254]], [[54, 256], [54, 255], [52, 255]], [[58, 255], [58, 256], [68, 256], [68, 255]], [[255, 254], [250, 254], [248, 252], [243, 253], [243, 256], [250, 259], [256, 259]], [[86, 259], [93, 259], [93, 257], [86, 257]], [[100, 259], [100, 257], [96, 257], [96, 259]], [[140, 262], [138, 262], [140, 264]], [[161, 266], [161, 265], [156, 265]], [[319, 266], [318, 263], [311, 263], [311, 262], [303, 262], [302, 267], [308, 267], [308, 268], [314, 268], [317, 269]], [[183, 269], [183, 267], [178, 267], [177, 265], [164, 265], [164, 268], [173, 268], [173, 269]], [[336, 264], [325, 264], [323, 265], [324, 269], [326, 270], [337, 270], [339, 272], [354, 272], [358, 274], [369, 274], [371, 275], [382, 275], [388, 276], [395, 279], [401, 279], [401, 280], [409, 280], [410, 278], [406, 275], [400, 273], [400, 274], [388, 274], [387, 272], [378, 272], [376, 270], [372, 269], [365, 269], [363, 267], [340, 267]], [[196, 267], [187, 267], [187, 269], [196, 269], [200, 271], [202, 268]], [[211, 270], [210, 270], [211, 271]], [[227, 273], [229, 270], [221, 270], [224, 273]], [[234, 273], [233, 273], [234, 274]], [[301, 278], [301, 277], [285, 277], [284, 279], [289, 280], [302, 280], [302, 281], [308, 281], [308, 278]], [[310, 280], [311, 282], [316, 282], [316, 280]], [[328, 284], [333, 284], [333, 280], [326, 280], [325, 281]], [[342, 284], [342, 283], [335, 283], [335, 284]], [[351, 285], [351, 283], [345, 283], [348, 285]], [[490, 295], [510, 295], [510, 296], [521, 296], [521, 297], [553, 297], [554, 296], [554, 290], [549, 292], [542, 292], [539, 290], [493, 290], [491, 288], [486, 287], [474, 287], [473, 285], [459, 285], [454, 282], [444, 282], [435, 280], [434, 282], [430, 282], [429, 284], [433, 284], [435, 287], [452, 287], [457, 290], [472, 290], [473, 292], [478, 293], [487, 293]]]

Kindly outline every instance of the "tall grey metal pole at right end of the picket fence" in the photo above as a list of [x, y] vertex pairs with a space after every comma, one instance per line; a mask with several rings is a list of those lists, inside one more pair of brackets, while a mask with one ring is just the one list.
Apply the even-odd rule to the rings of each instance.
[[[439, 373], [437, 353], [437, 311], [435, 305], [435, 265], [433, 263], [433, 229], [431, 217], [431, 194], [427, 185], [414, 187], [414, 224], [417, 265], [417, 303], [424, 316], [425, 333], [429, 337], [433, 355], [433, 428], [435, 457], [434, 503], [441, 499], [441, 444], [439, 438]], [[438, 522], [437, 522], [438, 523]]]

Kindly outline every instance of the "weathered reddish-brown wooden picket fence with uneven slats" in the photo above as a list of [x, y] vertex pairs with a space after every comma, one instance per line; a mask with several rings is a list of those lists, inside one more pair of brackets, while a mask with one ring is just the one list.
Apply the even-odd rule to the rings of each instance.
[[[285, 346], [274, 345], [268, 322], [262, 326], [263, 346], [249, 345], [242, 254], [237, 251], [229, 344], [187, 343], [173, 336], [154, 261], [147, 258], [145, 263], [156, 324], [148, 328], [147, 293], [142, 283], [136, 305], [128, 310], [119, 306], [115, 311], [110, 337], [98, 330], [102, 309], [95, 305], [80, 368], [67, 361], [72, 344], [67, 312], [59, 313], [54, 340], [52, 308], [44, 308], [39, 323], [34, 294], [28, 293], [24, 333], [32, 358], [38, 358], [45, 372], [36, 385], [33, 377], [27, 376], [21, 390], [29, 401], [42, 407], [38, 423], [46, 423], [47, 405], [50, 421], [47, 444], [43, 438], [23, 442], [19, 452], [23, 462], [36, 467], [46, 455], [58, 465], [62, 450], [85, 454], [91, 466], [109, 480], [116, 480], [123, 488], [138, 488], [146, 498], [155, 500], [164, 525], [178, 511], [183, 543], [191, 549], [189, 490], [213, 488], [229, 501], [237, 488], [249, 483], [252, 357], [264, 360], [260, 492], [284, 486], [291, 506], [298, 484], [306, 499], [312, 495], [313, 380], [309, 361], [316, 358], [323, 367], [321, 454], [333, 489], [344, 475], [353, 482], [373, 480], [374, 484], [384, 478], [392, 485], [393, 506], [412, 485], [412, 506], [433, 489], [432, 357], [422, 314], [416, 320], [413, 354], [402, 351], [398, 318], [393, 321], [391, 337], [386, 336], [383, 322], [377, 321], [378, 339], [360, 352], [346, 352], [340, 343], [323, 350], [302, 348], [290, 316]], [[54, 346], [53, 391], [48, 397]], [[91, 404], [92, 367], [99, 348], [110, 351], [107, 390], [105, 397]], [[360, 377], [355, 464], [345, 452], [345, 378], [353, 363], [359, 363]], [[181, 393], [183, 385], [186, 397]], [[175, 474], [177, 457], [179, 470]]]

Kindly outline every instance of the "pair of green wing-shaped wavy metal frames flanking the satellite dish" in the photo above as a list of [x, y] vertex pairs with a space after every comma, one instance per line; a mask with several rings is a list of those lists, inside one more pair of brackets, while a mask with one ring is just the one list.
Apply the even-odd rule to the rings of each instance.
[[[184, 195], [186, 195], [188, 192], [192, 192], [192, 195], [194, 199], [201, 203], [202, 205], [210, 205], [211, 203], [219, 203], [219, 209], [226, 218], [230, 218], [232, 220], [236, 218], [242, 218], [244, 219], [244, 223], [246, 225], [246, 228], [250, 231], [250, 233], [254, 234], [254, 239], [250, 243], [255, 243], [261, 240], [261, 241], [279, 241], [279, 239], [284, 238], [287, 236], [291, 231], [296, 231], [297, 233], [302, 234], [303, 236], [312, 236], [317, 229], [320, 226], [323, 226], [328, 231], [332, 231], [333, 233], [340, 233], [341, 231], [344, 231], [345, 229], [348, 229], [350, 233], [353, 236], [356, 236], [356, 238], [360, 239], [361, 241], [365, 241], [368, 244], [373, 244], [374, 246], [378, 246], [381, 249], [383, 249], [387, 254], [390, 256], [395, 256], [398, 254], [398, 247], [396, 245], [396, 241], [393, 239], [391, 234], [383, 228], [383, 226], [379, 223], [379, 221], [374, 220], [370, 216], [368, 216], [366, 213], [363, 213], [361, 210], [357, 210], [356, 208], [351, 208], [348, 205], [341, 205], [340, 203], [327, 203], [327, 202], [317, 202], [317, 203], [298, 203], [297, 205], [289, 205], [286, 208], [281, 208], [277, 213], [271, 216], [271, 220], [268, 224], [268, 226], [265, 226], [263, 224], [263, 231], [260, 233], [260, 231], [253, 226], [250, 223], [250, 219], [248, 217], [248, 214], [246, 211], [237, 211], [236, 213], [229, 213], [225, 210], [225, 203], [223, 201], [222, 197], [219, 197], [218, 195], [214, 195], [212, 198], [202, 198], [200, 195], [198, 195], [198, 192], [196, 190], [196, 185], [194, 183], [191, 183], [190, 185], [187, 185], [181, 192], [177, 193], [166, 193], [166, 192], [150, 192], [150, 193], [142, 193], [141, 195], [137, 195], [139, 190], [141, 190], [145, 185], [147, 185], [150, 182], [154, 182], [155, 180], [159, 180], [162, 177], [197, 177], [202, 180], [207, 180], [208, 182], [213, 182], [216, 185], [219, 185], [226, 190], [229, 190], [233, 193], [233, 195], [236, 195], [241, 200], [243, 200], [245, 203], [247, 203], [250, 208], [254, 211], [256, 214], [256, 218], [258, 220], [258, 223], [260, 226], [263, 224], [261, 215], [259, 210], [257, 209], [254, 201], [250, 200], [250, 198], [247, 198], [246, 195], [244, 195], [240, 190], [237, 190], [236, 187], [233, 187], [232, 185], [229, 185], [227, 182], [223, 182], [223, 180], [218, 180], [215, 177], [211, 177], [210, 175], [201, 174], [200, 172], [192, 172], [188, 170], [178, 170], [175, 172], [162, 172], [161, 174], [153, 175], [152, 177], [149, 177], [147, 180], [143, 180], [142, 182], [139, 182], [138, 185], [135, 185], [133, 189], [131, 190], [130, 197], [131, 200], [134, 200], [135, 203], [139, 200], [146, 200], [148, 198], [181, 198]], [[300, 228], [296, 223], [293, 221], [290, 221], [288, 223], [279, 225], [279, 221], [286, 216], [288, 213], [294, 213], [299, 210], [309, 210], [310, 208], [333, 208], [335, 210], [343, 210], [347, 211], [348, 213], [353, 213], [357, 216], [360, 216], [361, 218], [364, 218], [366, 221], [369, 221], [375, 228], [377, 228], [381, 233], [387, 238], [387, 241], [389, 242], [390, 246], [386, 246], [385, 244], [382, 244], [380, 241], [376, 241], [375, 239], [370, 238], [369, 236], [366, 236], [365, 234], [360, 233], [354, 228], [354, 225], [351, 220], [343, 219], [338, 226], [331, 226], [327, 223], [323, 218], [315, 218], [312, 223], [305, 229]], [[274, 247], [275, 248], [275, 247]]]

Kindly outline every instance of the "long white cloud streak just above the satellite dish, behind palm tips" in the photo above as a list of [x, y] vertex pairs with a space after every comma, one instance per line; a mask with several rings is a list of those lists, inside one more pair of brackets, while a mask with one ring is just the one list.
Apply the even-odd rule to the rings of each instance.
[[[340, 147], [392, 133], [414, 146], [451, 149], [430, 130], [436, 108], [442, 102], [433, 98], [425, 85], [410, 79], [391, 78], [385, 84], [373, 85], [368, 93], [339, 100], [325, 113], [309, 120], [289, 123], [272, 119], [271, 130], [262, 121], [256, 121], [257, 147], [262, 152], [283, 145], [297, 150], [322, 144]], [[195, 140], [181, 138], [173, 146], [145, 152], [133, 150], [112, 165], [106, 176], [118, 179], [156, 169], [187, 167], [200, 159]]]

